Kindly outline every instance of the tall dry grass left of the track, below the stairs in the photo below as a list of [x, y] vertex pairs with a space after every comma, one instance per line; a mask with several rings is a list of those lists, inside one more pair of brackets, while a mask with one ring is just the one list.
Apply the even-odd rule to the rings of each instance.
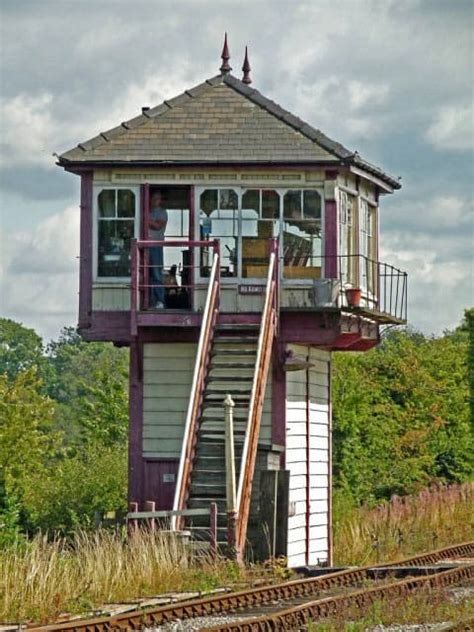
[[208, 590], [244, 573], [190, 553], [174, 534], [79, 532], [72, 540], [37, 535], [0, 549], [0, 621], [52, 621], [107, 602], [169, 591]]

